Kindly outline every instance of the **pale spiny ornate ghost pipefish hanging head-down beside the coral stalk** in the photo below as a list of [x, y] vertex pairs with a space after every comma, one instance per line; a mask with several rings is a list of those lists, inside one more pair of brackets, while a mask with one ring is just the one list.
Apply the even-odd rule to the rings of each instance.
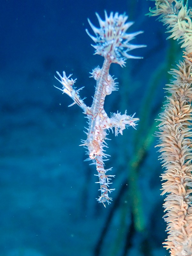
[[[115, 128], [115, 135], [118, 133], [122, 134], [122, 131], [128, 126], [132, 126], [135, 128], [136, 122], [139, 118], [135, 118], [134, 115], [128, 116], [125, 114], [121, 115], [120, 113], [112, 113], [109, 118], [104, 110], [104, 100], [105, 96], [111, 94], [112, 91], [118, 90], [118, 83], [115, 82], [115, 79], [109, 74], [109, 68], [111, 63], [117, 63], [120, 66], [125, 66], [126, 60], [128, 58], [132, 59], [140, 59], [141, 57], [135, 57], [129, 55], [128, 52], [144, 47], [145, 45], [135, 45], [130, 44], [130, 41], [134, 39], [134, 37], [142, 31], [128, 34], [126, 33], [127, 29], [133, 24], [133, 22], [127, 22], [126, 15], [119, 15], [116, 12], [113, 15], [113, 12], [110, 13], [109, 17], [105, 12], [105, 20], [102, 20], [100, 16], [96, 13], [96, 16], [99, 21], [100, 28], [96, 28], [90, 20], [88, 20], [89, 25], [93, 29], [95, 36], [89, 34], [86, 29], [87, 34], [94, 41], [94, 45], [92, 45], [96, 51], [95, 54], [99, 54], [104, 57], [104, 63], [102, 68], [95, 68], [91, 73], [91, 77], [96, 80], [96, 90], [95, 95], [93, 97], [93, 103], [91, 107], [87, 107], [84, 103], [84, 99], [82, 100], [79, 91], [83, 88], [76, 90], [74, 87], [74, 83], [76, 81], [73, 80], [70, 76], [66, 76], [65, 72], [63, 72], [63, 76], [61, 76], [58, 72], [58, 76], [60, 79], [58, 81], [62, 84], [61, 90], [63, 93], [69, 95], [74, 101], [70, 106], [77, 104], [83, 109], [83, 113], [88, 118], [88, 128], [87, 139], [82, 140], [81, 146], [84, 146], [87, 151], [87, 155], [89, 156], [86, 160], [92, 160], [93, 164], [96, 165], [97, 176], [99, 178], [101, 196], [97, 199], [99, 203], [110, 203], [112, 200], [109, 197], [109, 193], [114, 189], [109, 188], [109, 184], [111, 184], [111, 177], [114, 175], [106, 175], [106, 172], [111, 170], [104, 169], [104, 161], [107, 159], [107, 155], [105, 153], [104, 147], [107, 148], [107, 143], [105, 142], [107, 130], [112, 130]], [[105, 206], [105, 204], [104, 204]]]

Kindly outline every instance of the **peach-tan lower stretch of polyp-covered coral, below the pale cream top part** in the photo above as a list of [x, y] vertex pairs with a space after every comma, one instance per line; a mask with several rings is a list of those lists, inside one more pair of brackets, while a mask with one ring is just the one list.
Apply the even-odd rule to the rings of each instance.
[[165, 110], [160, 114], [158, 133], [161, 147], [162, 195], [167, 193], [164, 208], [168, 238], [165, 247], [171, 255], [192, 255], [192, 165], [191, 165], [191, 63], [180, 62], [172, 69], [174, 80], [167, 89]]

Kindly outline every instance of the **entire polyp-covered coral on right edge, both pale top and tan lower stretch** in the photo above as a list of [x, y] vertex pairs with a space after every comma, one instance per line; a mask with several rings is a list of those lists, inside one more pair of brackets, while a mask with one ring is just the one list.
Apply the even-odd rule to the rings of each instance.
[[165, 109], [160, 114], [159, 137], [165, 172], [162, 174], [162, 195], [165, 198], [164, 220], [168, 237], [165, 246], [172, 256], [192, 255], [192, 23], [191, 10], [184, 1], [156, 0], [150, 15], [160, 15], [171, 35], [184, 48], [184, 60], [172, 69], [171, 84], [166, 89]]

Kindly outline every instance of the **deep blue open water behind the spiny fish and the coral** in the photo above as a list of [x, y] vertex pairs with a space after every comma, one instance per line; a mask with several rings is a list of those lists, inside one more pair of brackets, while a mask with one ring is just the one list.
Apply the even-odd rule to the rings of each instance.
[[[154, 2], [3, 0], [0, 6], [0, 256], [168, 255], [161, 244], [166, 237], [162, 170], [153, 127], [165, 99], [167, 71], [182, 52], [166, 40], [155, 17], [145, 16]], [[72, 100], [53, 86], [59, 86], [56, 71], [73, 73], [91, 105], [95, 80], [89, 72], [101, 67], [103, 58], [93, 55], [85, 29], [92, 33], [87, 18], [98, 26], [95, 12], [104, 19], [104, 10], [125, 12], [135, 21], [128, 31], [144, 31], [132, 42], [147, 45], [131, 52], [143, 59], [110, 69], [119, 91], [106, 98], [106, 112], [127, 109], [141, 121], [123, 136], [109, 134], [106, 168], [113, 166], [116, 190], [106, 208], [95, 199], [95, 166], [83, 162], [87, 157], [78, 146], [86, 139], [86, 119], [77, 105], [68, 108]], [[147, 136], [152, 139], [145, 148]], [[135, 191], [130, 191], [130, 163], [141, 148]], [[137, 209], [134, 194], [139, 194]]]

